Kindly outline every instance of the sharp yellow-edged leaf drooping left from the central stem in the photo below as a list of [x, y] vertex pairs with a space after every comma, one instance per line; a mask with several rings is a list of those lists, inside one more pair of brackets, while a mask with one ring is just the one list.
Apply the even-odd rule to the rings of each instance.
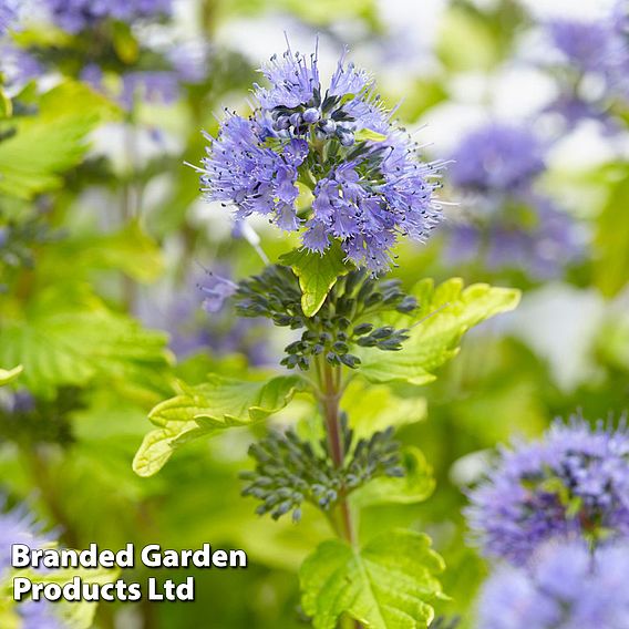
[[200, 436], [264, 420], [283, 409], [306, 388], [298, 375], [237, 380], [216, 373], [196, 386], [179, 384], [181, 394], [157, 404], [148, 417], [158, 426], [142, 442], [133, 461], [141, 476], [158, 472], [173, 452]]

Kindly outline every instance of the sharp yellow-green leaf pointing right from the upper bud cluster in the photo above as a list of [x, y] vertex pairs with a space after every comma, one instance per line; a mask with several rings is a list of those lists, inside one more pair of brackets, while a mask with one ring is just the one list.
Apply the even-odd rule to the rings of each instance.
[[472, 327], [501, 312], [513, 310], [519, 291], [475, 283], [463, 288], [460, 278], [434, 287], [430, 279], [411, 290], [420, 305], [414, 322], [408, 316], [391, 313], [383, 322], [410, 327], [409, 339], [398, 352], [362, 349], [362, 374], [370, 382], [404, 381], [426, 384], [435, 380], [434, 370], [456, 355], [463, 334]]

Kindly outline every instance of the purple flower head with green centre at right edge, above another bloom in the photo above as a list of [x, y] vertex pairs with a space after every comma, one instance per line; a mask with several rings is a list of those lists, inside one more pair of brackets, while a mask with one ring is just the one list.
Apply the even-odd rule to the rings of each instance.
[[629, 432], [557, 422], [542, 441], [503, 450], [470, 499], [466, 515], [484, 554], [515, 563], [557, 536], [592, 544], [627, 536]]

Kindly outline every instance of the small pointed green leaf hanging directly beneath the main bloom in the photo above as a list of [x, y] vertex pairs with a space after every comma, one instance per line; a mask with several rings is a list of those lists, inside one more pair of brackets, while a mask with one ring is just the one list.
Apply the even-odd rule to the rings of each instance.
[[350, 271], [351, 265], [343, 261], [344, 254], [334, 243], [324, 254], [308, 249], [296, 249], [280, 258], [285, 265], [292, 267], [301, 287], [301, 308], [307, 317], [319, 312], [330, 289], [339, 277]]

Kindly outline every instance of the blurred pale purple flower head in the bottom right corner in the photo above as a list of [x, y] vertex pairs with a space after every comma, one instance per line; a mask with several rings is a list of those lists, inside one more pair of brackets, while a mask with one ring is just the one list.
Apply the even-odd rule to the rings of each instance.
[[551, 542], [526, 567], [503, 566], [478, 600], [483, 629], [629, 629], [629, 546], [594, 555], [582, 542]]

